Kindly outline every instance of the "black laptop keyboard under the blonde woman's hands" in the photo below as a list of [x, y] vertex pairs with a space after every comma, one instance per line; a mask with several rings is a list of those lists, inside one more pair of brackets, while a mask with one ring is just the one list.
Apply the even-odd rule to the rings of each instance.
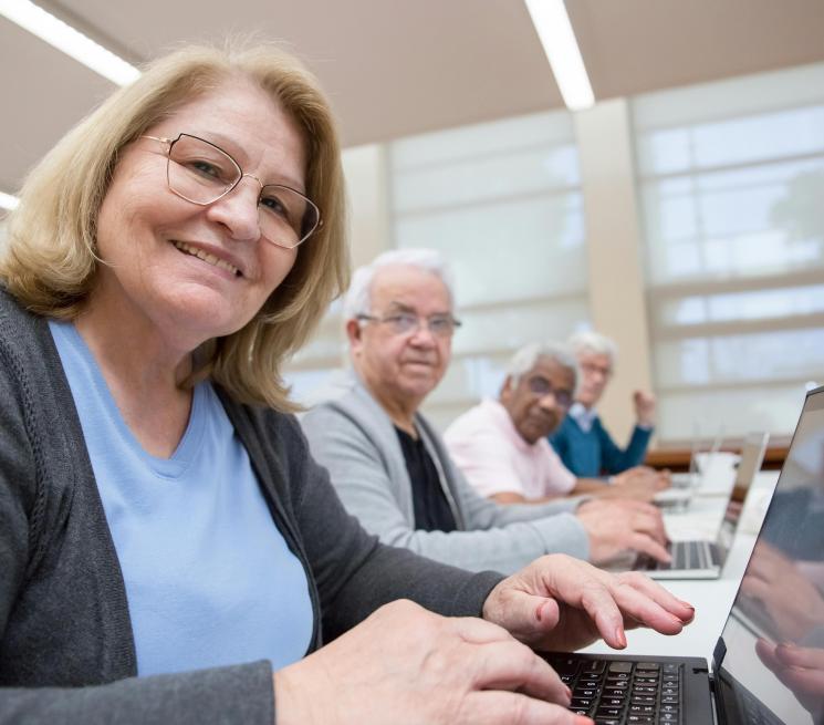
[[572, 690], [570, 710], [597, 725], [674, 725], [681, 723], [681, 665], [547, 655]]

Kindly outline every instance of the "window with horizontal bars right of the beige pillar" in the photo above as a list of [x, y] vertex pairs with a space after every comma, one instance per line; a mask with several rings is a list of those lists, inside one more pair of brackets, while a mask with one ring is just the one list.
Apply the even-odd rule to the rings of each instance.
[[658, 434], [792, 433], [824, 382], [824, 64], [632, 107]]

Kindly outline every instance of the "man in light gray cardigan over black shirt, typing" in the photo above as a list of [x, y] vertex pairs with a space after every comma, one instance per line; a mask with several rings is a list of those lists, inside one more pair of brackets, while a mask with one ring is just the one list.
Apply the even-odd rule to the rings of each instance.
[[380, 255], [355, 272], [344, 311], [354, 374], [302, 424], [367, 530], [473, 571], [511, 572], [549, 552], [603, 562], [633, 549], [669, 560], [660, 517], [642, 504], [622, 516], [599, 500], [498, 506], [466, 483], [418, 410], [446, 372], [460, 324], [437, 252]]

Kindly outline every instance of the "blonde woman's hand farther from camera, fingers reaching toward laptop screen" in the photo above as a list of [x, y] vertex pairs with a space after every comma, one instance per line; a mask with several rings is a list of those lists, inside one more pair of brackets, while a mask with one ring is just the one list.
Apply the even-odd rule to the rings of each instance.
[[638, 572], [611, 574], [565, 555], [541, 557], [501, 581], [483, 618], [534, 648], [572, 651], [598, 638], [626, 646], [625, 630], [678, 634], [695, 610]]

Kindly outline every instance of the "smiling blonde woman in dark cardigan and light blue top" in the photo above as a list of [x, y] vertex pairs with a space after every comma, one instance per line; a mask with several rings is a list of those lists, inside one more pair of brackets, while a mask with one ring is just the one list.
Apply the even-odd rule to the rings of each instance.
[[345, 514], [279, 376], [347, 283], [343, 196], [328, 104], [273, 48], [160, 59], [31, 173], [0, 259], [0, 723], [573, 723], [521, 642], [690, 619]]

